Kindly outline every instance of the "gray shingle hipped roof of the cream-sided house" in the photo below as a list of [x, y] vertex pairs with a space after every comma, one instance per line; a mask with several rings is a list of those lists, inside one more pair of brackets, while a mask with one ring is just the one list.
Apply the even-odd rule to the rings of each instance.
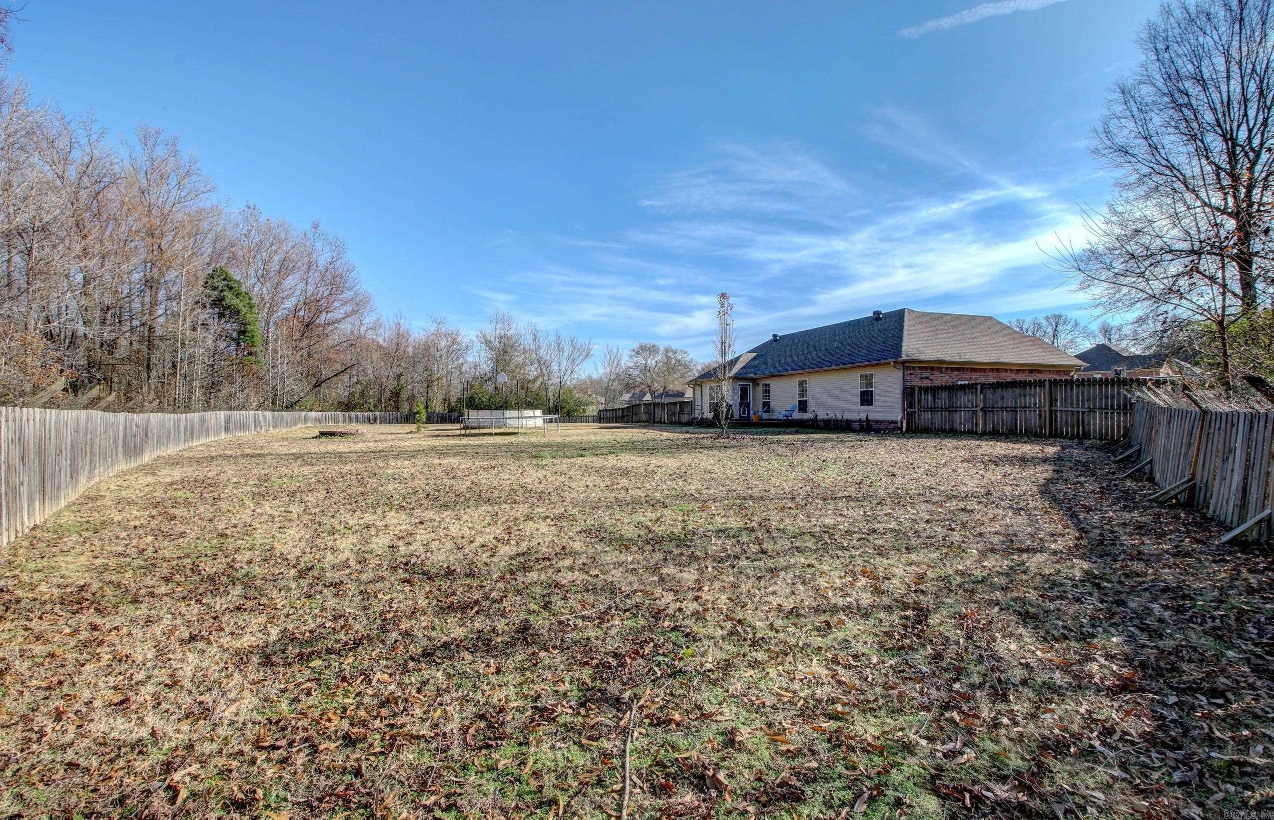
[[[755, 378], [871, 362], [967, 362], [1083, 367], [1042, 339], [1027, 336], [991, 316], [926, 313], [902, 308], [786, 334], [733, 360], [735, 376]], [[711, 378], [711, 371], [693, 381]]]

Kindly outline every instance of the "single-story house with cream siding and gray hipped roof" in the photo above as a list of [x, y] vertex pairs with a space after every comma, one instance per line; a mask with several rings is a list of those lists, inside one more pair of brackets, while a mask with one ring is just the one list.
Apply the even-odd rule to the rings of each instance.
[[[903, 308], [780, 336], [730, 360], [729, 401], [739, 418], [871, 418], [901, 427], [912, 387], [1017, 378], [1066, 378], [1084, 367], [1042, 339], [990, 316]], [[708, 416], [713, 373], [692, 379], [694, 414]]]

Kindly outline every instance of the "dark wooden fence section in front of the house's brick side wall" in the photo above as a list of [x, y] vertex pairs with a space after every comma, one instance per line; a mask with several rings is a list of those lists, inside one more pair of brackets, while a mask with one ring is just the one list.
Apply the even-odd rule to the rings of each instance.
[[912, 387], [907, 430], [1117, 441], [1133, 423], [1129, 388], [1168, 378], [1032, 378]]

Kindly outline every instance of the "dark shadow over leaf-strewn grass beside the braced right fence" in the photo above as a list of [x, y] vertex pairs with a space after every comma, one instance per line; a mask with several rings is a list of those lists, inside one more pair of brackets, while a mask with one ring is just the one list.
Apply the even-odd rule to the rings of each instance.
[[[1038, 646], [1055, 647], [1033, 662], [1049, 674], [1032, 685], [1042, 702], [1068, 700], [1078, 713], [1077, 722], [1056, 721], [1018, 782], [1074, 809], [1068, 792], [1085, 786], [1050, 783], [1045, 755], [1052, 755], [1145, 801], [1107, 810], [1201, 817], [1274, 806], [1265, 750], [1274, 741], [1270, 556], [1257, 546], [1218, 546], [1223, 528], [1199, 511], [1149, 502], [1154, 488], [1120, 480], [1105, 447], [1041, 444], [1015, 458], [1052, 462], [1041, 495], [1078, 536], [1017, 546], [1015, 558], [1043, 553], [1052, 570], [985, 579], [994, 588], [978, 593], [1000, 596]], [[1094, 800], [1084, 802], [1103, 806]]]

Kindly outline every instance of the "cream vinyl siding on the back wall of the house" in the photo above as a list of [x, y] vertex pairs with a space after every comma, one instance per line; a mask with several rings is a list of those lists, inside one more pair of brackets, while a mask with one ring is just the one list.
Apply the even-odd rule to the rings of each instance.
[[[864, 407], [859, 404], [859, 376], [871, 373], [875, 404]], [[862, 419], [871, 416], [882, 421], [901, 421], [902, 419], [902, 373], [889, 364], [820, 371], [817, 373], [796, 373], [792, 376], [772, 376], [753, 382], [757, 406], [761, 406], [761, 386], [769, 383], [768, 418], [796, 404], [796, 382], [809, 382], [809, 411], [798, 413], [795, 418], [820, 416], [843, 419]], [[757, 410], [759, 413], [759, 410]]]

